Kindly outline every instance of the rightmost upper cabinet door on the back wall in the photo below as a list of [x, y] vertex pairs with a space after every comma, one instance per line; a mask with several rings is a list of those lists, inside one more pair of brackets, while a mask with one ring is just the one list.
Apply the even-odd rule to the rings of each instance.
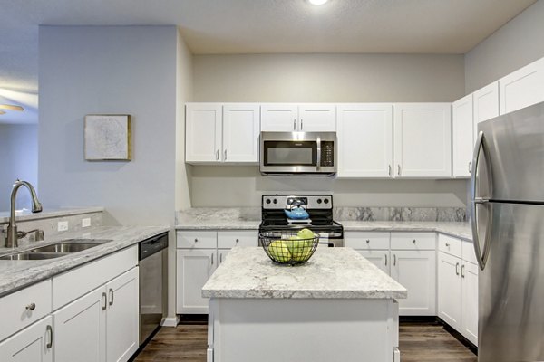
[[452, 176], [451, 109], [451, 103], [394, 105], [395, 176]]

